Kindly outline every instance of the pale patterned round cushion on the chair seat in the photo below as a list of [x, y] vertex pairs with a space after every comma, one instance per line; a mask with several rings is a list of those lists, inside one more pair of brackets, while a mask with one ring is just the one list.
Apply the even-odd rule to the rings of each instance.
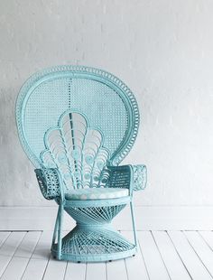
[[116, 199], [128, 196], [128, 194], [128, 189], [122, 188], [89, 188], [68, 191], [65, 198], [68, 201], [93, 201]]

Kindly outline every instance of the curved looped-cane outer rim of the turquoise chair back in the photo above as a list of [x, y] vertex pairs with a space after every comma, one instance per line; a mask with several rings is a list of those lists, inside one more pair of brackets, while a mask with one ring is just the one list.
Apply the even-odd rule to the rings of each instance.
[[131, 150], [138, 132], [140, 116], [137, 102], [134, 98], [134, 94], [123, 81], [116, 78], [116, 76], [112, 75], [111, 73], [106, 72], [105, 70], [98, 70], [87, 66], [61, 65], [57, 67], [51, 67], [46, 70], [36, 72], [26, 80], [26, 82], [23, 84], [23, 87], [20, 89], [15, 106], [16, 123], [19, 137], [23, 145], [23, 150], [36, 168], [41, 167], [41, 162], [32, 153], [32, 149], [27, 143], [27, 137], [24, 134], [24, 108], [33, 89], [38, 87], [38, 85], [40, 85], [43, 81], [60, 77], [64, 78], [65, 76], [78, 79], [93, 79], [98, 82], [102, 82], [111, 89], [114, 89], [116, 93], [125, 101], [125, 107], [129, 114], [129, 129], [126, 131], [124, 140], [119, 145], [116, 152], [112, 154], [109, 163], [111, 165], [118, 165]]

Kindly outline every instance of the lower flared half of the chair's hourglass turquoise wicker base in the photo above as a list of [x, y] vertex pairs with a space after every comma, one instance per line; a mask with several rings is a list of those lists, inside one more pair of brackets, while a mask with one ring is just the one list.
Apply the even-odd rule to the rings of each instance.
[[58, 245], [51, 247], [53, 257], [73, 262], [103, 262], [132, 257], [136, 252], [134, 244], [106, 225], [78, 224], [62, 238], [61, 254]]

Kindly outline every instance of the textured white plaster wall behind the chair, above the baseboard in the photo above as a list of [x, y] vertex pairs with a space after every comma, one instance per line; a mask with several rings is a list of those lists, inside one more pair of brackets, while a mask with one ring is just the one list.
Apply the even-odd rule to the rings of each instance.
[[142, 115], [125, 163], [146, 163], [137, 205], [213, 204], [213, 1], [0, 1], [0, 205], [48, 205], [17, 138], [23, 81], [57, 64], [113, 72]]

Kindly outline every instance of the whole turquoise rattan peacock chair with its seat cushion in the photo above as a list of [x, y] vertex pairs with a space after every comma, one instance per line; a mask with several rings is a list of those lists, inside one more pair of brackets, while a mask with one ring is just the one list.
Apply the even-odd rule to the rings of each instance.
[[[112, 74], [57, 66], [28, 79], [16, 102], [23, 150], [42, 195], [59, 205], [51, 252], [57, 259], [98, 262], [137, 249], [133, 191], [146, 184], [144, 165], [121, 165], [139, 127], [134, 95]], [[130, 203], [134, 243], [111, 226]], [[64, 210], [76, 227], [62, 238]]]

